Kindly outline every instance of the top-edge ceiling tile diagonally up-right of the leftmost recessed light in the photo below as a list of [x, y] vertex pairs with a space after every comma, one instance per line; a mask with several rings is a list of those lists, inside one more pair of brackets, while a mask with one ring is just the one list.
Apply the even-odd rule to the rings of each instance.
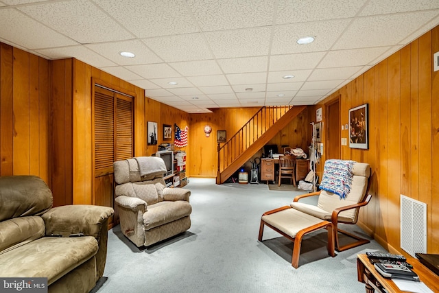
[[182, 0], [94, 0], [138, 38], [199, 32]]

